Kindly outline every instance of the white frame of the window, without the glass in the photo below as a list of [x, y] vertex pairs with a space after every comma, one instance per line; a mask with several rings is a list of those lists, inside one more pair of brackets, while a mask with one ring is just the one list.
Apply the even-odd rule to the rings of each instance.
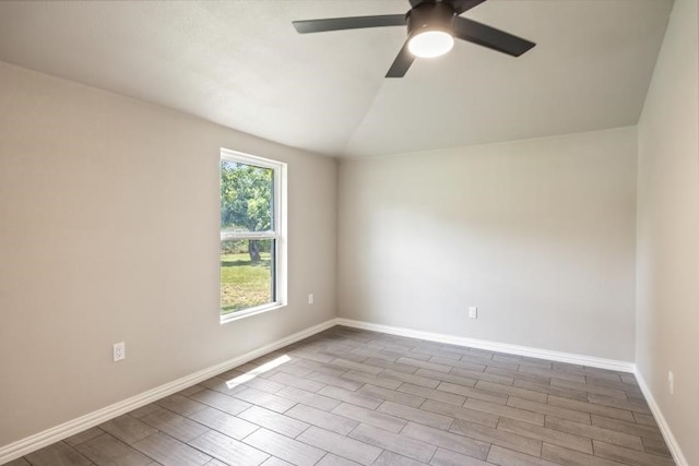
[[[271, 231], [226, 231], [221, 232], [221, 241], [230, 239], [274, 239], [272, 243], [274, 250], [274, 264], [272, 264], [274, 276], [274, 301], [265, 304], [256, 306], [253, 308], [242, 309], [230, 312], [225, 315], [221, 314], [221, 323], [237, 321], [239, 319], [256, 315], [262, 312], [281, 309], [287, 306], [287, 265], [286, 265], [286, 164], [283, 162], [272, 160], [269, 158], [258, 157], [242, 152], [221, 150], [221, 162], [228, 160], [245, 165], [252, 165], [260, 168], [271, 168], [273, 176], [273, 227]], [[221, 172], [218, 174], [218, 182], [221, 183]], [[220, 207], [221, 208], [221, 198]], [[221, 267], [218, 267], [218, 292], [221, 294]], [[218, 299], [221, 302], [221, 297]], [[221, 309], [218, 311], [221, 313]]]

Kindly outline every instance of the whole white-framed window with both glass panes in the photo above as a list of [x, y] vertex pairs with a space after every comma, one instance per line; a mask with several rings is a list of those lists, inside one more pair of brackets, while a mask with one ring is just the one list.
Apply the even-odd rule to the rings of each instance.
[[221, 321], [286, 304], [286, 164], [221, 151]]

